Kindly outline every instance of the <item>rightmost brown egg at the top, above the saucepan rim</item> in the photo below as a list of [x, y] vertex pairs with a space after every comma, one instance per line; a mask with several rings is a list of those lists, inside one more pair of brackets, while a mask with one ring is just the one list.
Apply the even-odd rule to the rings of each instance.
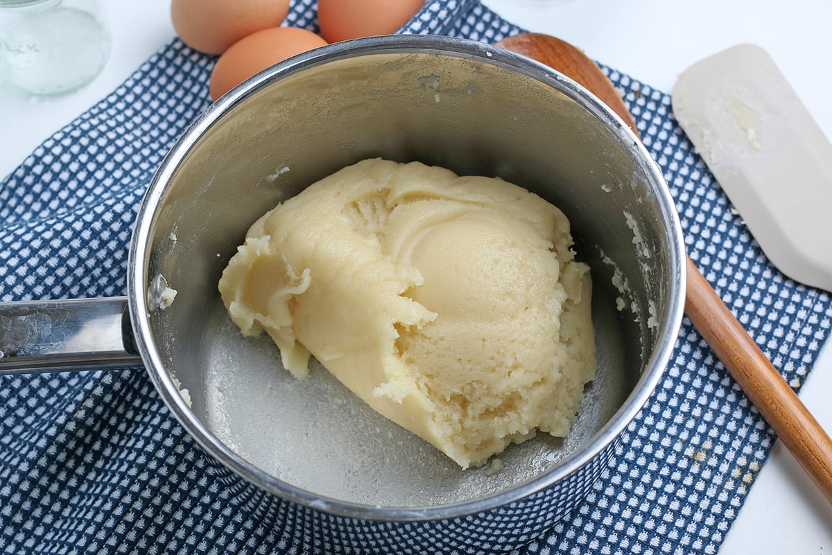
[[423, 5], [423, 0], [318, 0], [320, 34], [327, 42], [389, 35]]

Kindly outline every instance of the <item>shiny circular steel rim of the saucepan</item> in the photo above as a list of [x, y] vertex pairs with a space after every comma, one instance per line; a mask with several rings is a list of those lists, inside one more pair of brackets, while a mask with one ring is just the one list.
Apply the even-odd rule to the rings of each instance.
[[[575, 102], [581, 103], [594, 116], [602, 120], [604, 125], [614, 129], [622, 141], [631, 142], [631, 148], [645, 162], [645, 179], [650, 181], [647, 185], [648, 189], [656, 196], [658, 206], [661, 206], [661, 217], [664, 219], [662, 225], [667, 230], [666, 240], [671, 257], [673, 277], [672, 283], [668, 284], [668, 290], [671, 291], [670, 302], [666, 306], [665, 314], [658, 315], [661, 328], [657, 334], [656, 349], [651, 354], [641, 378], [621, 408], [617, 410], [617, 413], [586, 444], [577, 448], [575, 452], [547, 472], [541, 473], [535, 478], [530, 478], [526, 482], [519, 483], [513, 488], [472, 500], [414, 508], [382, 507], [326, 498], [274, 478], [255, 467], [255, 465], [248, 463], [228, 448], [191, 411], [188, 404], [182, 399], [174, 380], [171, 379], [151, 330], [150, 308], [146, 294], [150, 280], [148, 270], [148, 260], [151, 255], [150, 239], [156, 223], [156, 216], [158, 216], [158, 212], [163, 206], [166, 187], [171, 181], [176, 168], [186, 159], [189, 152], [200, 141], [201, 136], [204, 136], [206, 131], [214, 126], [217, 121], [220, 121], [225, 113], [231, 111], [240, 102], [245, 101], [247, 97], [255, 94], [261, 88], [269, 87], [271, 83], [295, 73], [303, 72], [307, 68], [347, 57], [408, 52], [435, 53], [480, 60], [505, 67], [508, 71], [520, 72], [533, 77], [551, 85], [571, 97]], [[552, 70], [550, 67], [483, 42], [433, 35], [389, 35], [334, 43], [292, 57], [241, 83], [238, 87], [226, 93], [225, 96], [220, 97], [217, 102], [208, 107], [191, 123], [191, 126], [180, 136], [161, 162], [161, 166], [153, 176], [146, 196], [141, 203], [131, 239], [128, 260], [128, 290], [130, 291], [128, 303], [136, 342], [153, 384], [186, 431], [196, 439], [196, 442], [207, 453], [210, 453], [220, 463], [224, 464], [226, 468], [266, 492], [274, 493], [292, 503], [318, 509], [325, 513], [375, 521], [417, 522], [460, 518], [517, 502], [564, 480], [579, 468], [590, 463], [604, 448], [607, 448], [609, 444], [619, 438], [626, 426], [635, 418], [636, 413], [646, 403], [653, 390], [656, 389], [661, 374], [670, 361], [672, 350], [676, 344], [676, 336], [681, 327], [684, 308], [685, 266], [683, 260], [684, 244], [681, 225], [676, 215], [676, 208], [670, 191], [666, 187], [660, 169], [652, 160], [650, 153], [641, 145], [638, 137], [592, 93], [587, 92], [572, 79]]]

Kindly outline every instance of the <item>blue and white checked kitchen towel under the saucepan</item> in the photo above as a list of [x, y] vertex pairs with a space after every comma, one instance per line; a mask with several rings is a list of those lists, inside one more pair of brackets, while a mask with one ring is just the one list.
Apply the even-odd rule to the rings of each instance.
[[[287, 23], [317, 30], [314, 7], [293, 2]], [[483, 42], [518, 31], [477, 0], [426, 2], [402, 30]], [[0, 300], [126, 293], [141, 196], [210, 104], [214, 62], [172, 40], [0, 182]], [[602, 69], [666, 176], [691, 258], [800, 389], [830, 332], [829, 295], [765, 259], [668, 95]], [[602, 479], [518, 553], [716, 553], [774, 440], [686, 320]], [[142, 371], [0, 378], [0, 553], [323, 553], [282, 535], [263, 498], [202, 452]]]

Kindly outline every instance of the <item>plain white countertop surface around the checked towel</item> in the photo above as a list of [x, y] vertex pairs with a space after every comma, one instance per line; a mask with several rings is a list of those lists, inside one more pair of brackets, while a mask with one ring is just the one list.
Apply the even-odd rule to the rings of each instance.
[[[0, 88], [0, 175], [52, 132], [121, 84], [173, 37], [170, 0], [106, 2], [113, 49], [102, 73], [64, 97], [32, 99]], [[105, 2], [102, 2], [105, 3]], [[610, 67], [661, 91], [697, 60], [739, 42], [765, 47], [832, 137], [832, 2], [829, 0], [484, 0], [530, 31], [572, 42]], [[800, 398], [832, 430], [832, 342]], [[832, 505], [780, 442], [760, 470], [721, 555], [832, 553]]]

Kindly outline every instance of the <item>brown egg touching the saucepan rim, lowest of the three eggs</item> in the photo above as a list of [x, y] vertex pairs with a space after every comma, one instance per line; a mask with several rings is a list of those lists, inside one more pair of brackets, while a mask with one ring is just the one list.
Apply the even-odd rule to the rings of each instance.
[[210, 74], [210, 97], [216, 100], [266, 67], [325, 44], [314, 32], [298, 27], [272, 27], [250, 34], [216, 61]]

